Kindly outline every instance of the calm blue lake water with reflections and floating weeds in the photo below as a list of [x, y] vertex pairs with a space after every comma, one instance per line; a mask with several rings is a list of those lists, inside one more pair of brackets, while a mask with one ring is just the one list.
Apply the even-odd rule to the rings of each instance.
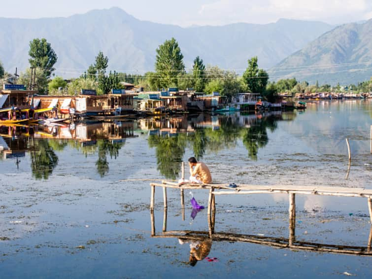
[[[173, 232], [162, 232], [157, 189], [151, 236], [149, 180], [180, 178], [181, 162], [195, 155], [219, 182], [372, 189], [371, 124], [372, 101], [353, 100], [262, 115], [2, 126], [0, 278], [370, 278], [371, 256], [210, 242], [206, 209], [193, 219], [191, 195], [182, 211], [176, 189], [168, 190]], [[207, 191], [192, 192], [206, 206]], [[366, 198], [297, 195], [296, 210], [296, 241], [367, 249]], [[216, 197], [218, 234], [280, 242], [288, 223], [288, 195]], [[190, 265], [196, 244], [206, 252]]]

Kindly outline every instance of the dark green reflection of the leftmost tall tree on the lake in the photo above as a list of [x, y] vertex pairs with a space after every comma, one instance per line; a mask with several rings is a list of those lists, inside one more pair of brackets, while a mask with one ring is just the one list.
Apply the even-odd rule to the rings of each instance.
[[31, 169], [36, 179], [48, 179], [58, 164], [58, 156], [54, 153], [48, 139], [31, 139]]

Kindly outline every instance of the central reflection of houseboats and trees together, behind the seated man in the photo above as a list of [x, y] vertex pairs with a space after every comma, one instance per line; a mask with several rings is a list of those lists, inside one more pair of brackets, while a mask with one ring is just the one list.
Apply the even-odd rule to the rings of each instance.
[[[259, 148], [268, 141], [267, 129], [273, 132], [278, 120], [293, 120], [294, 112], [273, 112], [267, 114], [241, 115], [199, 115], [189, 121], [174, 119], [139, 120], [140, 126], [149, 131], [149, 147], [156, 148], [159, 172], [168, 179], [179, 175], [186, 146], [190, 146], [200, 160], [205, 152], [218, 152], [236, 146], [242, 140], [248, 157], [257, 160]], [[152, 122], [151, 122], [152, 121]], [[173, 121], [173, 122], [172, 122]]]

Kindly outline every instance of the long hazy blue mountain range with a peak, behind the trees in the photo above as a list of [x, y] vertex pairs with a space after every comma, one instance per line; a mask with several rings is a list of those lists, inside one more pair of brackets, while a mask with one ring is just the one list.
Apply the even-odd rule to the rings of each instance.
[[0, 18], [0, 60], [5, 70], [25, 70], [30, 40], [45, 37], [58, 55], [56, 74], [65, 77], [86, 70], [100, 50], [111, 70], [153, 70], [155, 49], [173, 36], [186, 67], [199, 55], [205, 64], [242, 72], [252, 56], [268, 69], [331, 29], [321, 22], [286, 19], [266, 25], [181, 28], [140, 21], [119, 8], [68, 18]]

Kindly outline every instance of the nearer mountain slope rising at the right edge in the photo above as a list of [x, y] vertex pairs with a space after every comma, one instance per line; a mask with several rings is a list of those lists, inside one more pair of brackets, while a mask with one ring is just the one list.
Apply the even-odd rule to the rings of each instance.
[[310, 83], [357, 83], [372, 76], [372, 19], [345, 24], [321, 35], [270, 71]]

